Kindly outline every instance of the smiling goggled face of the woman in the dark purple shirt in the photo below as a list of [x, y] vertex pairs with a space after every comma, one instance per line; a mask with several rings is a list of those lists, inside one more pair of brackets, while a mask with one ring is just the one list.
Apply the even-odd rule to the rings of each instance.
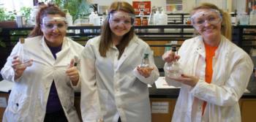
[[67, 23], [61, 15], [46, 15], [42, 19], [42, 33], [45, 42], [51, 47], [60, 46], [66, 36]]

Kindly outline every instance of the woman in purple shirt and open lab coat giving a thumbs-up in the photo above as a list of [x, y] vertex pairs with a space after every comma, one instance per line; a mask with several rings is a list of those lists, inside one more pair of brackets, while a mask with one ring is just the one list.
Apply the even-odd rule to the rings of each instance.
[[30, 37], [15, 45], [1, 69], [2, 77], [15, 83], [4, 122], [80, 121], [74, 107], [74, 91], [80, 88], [75, 65], [83, 46], [65, 37], [66, 31], [65, 13], [45, 5]]

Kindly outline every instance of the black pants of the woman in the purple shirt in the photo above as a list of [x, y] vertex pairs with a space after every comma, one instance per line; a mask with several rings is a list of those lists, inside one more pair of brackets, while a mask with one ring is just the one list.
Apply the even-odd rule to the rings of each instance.
[[44, 122], [68, 122], [64, 111], [61, 109], [54, 113], [46, 113]]

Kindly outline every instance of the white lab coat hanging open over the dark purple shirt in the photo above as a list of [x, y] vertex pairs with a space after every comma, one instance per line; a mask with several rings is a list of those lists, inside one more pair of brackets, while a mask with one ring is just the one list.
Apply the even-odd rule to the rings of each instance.
[[15, 45], [7, 58], [7, 63], [1, 69], [2, 77], [15, 83], [3, 121], [44, 121], [48, 94], [53, 80], [67, 120], [80, 121], [74, 107], [74, 90], [80, 88], [80, 81], [78, 85], [73, 86], [65, 72], [71, 59], [80, 55], [83, 46], [64, 37], [62, 49], [56, 53], [55, 60], [42, 36], [25, 39], [25, 56], [33, 59], [33, 64], [27, 67], [23, 75], [15, 81], [12, 58], [17, 56], [19, 45], [20, 42]]

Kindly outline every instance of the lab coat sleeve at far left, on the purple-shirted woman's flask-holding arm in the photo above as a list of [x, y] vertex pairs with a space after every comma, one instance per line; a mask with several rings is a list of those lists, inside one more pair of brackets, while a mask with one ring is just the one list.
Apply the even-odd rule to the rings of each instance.
[[[10, 56], [8, 56], [7, 58], [7, 62], [4, 64], [4, 67], [1, 69], [1, 76], [4, 78], [4, 80], [9, 80], [12, 82], [17, 82], [18, 80], [20, 80], [19, 77], [18, 79], [15, 80], [15, 71], [12, 69], [12, 59], [15, 56], [18, 56], [18, 47], [20, 45], [20, 42], [18, 42], [17, 45], [15, 45], [15, 47], [13, 47], [12, 49], [12, 53], [10, 54]], [[26, 69], [25, 69], [26, 70]]]

